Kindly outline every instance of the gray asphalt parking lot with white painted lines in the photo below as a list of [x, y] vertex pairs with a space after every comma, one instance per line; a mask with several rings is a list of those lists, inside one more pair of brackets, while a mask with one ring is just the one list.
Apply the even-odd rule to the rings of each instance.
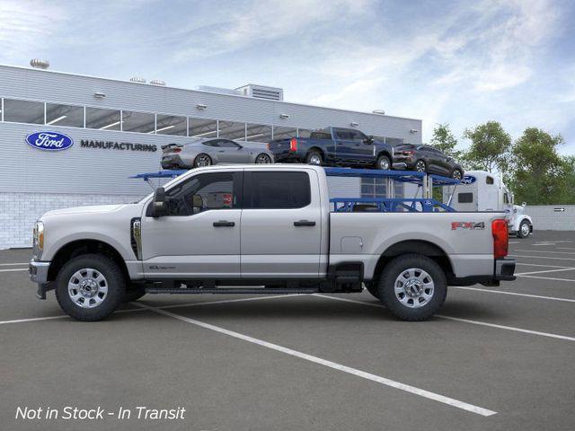
[[[37, 300], [0, 251], [0, 429], [575, 429], [575, 233], [510, 239], [517, 281], [394, 320], [353, 295], [146, 295], [110, 319]], [[18, 407], [132, 416], [16, 419]], [[137, 407], [185, 418], [137, 419]]]

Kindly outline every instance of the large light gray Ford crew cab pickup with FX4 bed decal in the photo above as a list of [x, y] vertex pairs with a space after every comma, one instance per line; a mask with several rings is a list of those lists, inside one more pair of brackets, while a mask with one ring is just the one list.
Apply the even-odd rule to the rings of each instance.
[[182, 174], [137, 203], [50, 211], [31, 280], [99, 321], [149, 294], [360, 292], [407, 321], [447, 286], [513, 280], [498, 213], [332, 212], [323, 168], [222, 165]]

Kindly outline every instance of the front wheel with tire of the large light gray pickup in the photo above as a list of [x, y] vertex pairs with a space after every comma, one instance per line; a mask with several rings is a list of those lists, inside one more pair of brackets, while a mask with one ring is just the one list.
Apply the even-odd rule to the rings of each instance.
[[102, 321], [118, 308], [125, 295], [122, 270], [100, 254], [71, 259], [57, 275], [57, 303], [78, 321]]

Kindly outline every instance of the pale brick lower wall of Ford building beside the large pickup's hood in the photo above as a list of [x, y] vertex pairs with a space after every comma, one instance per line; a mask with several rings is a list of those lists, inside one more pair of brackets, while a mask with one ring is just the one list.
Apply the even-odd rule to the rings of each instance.
[[0, 193], [0, 250], [31, 247], [32, 226], [42, 214], [52, 209], [121, 204], [139, 198], [134, 195]]

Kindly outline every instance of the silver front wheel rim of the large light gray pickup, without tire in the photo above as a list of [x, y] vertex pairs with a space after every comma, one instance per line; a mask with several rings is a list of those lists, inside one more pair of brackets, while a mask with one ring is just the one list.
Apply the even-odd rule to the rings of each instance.
[[95, 308], [108, 295], [108, 281], [98, 269], [79, 269], [68, 281], [68, 295], [79, 307]]

